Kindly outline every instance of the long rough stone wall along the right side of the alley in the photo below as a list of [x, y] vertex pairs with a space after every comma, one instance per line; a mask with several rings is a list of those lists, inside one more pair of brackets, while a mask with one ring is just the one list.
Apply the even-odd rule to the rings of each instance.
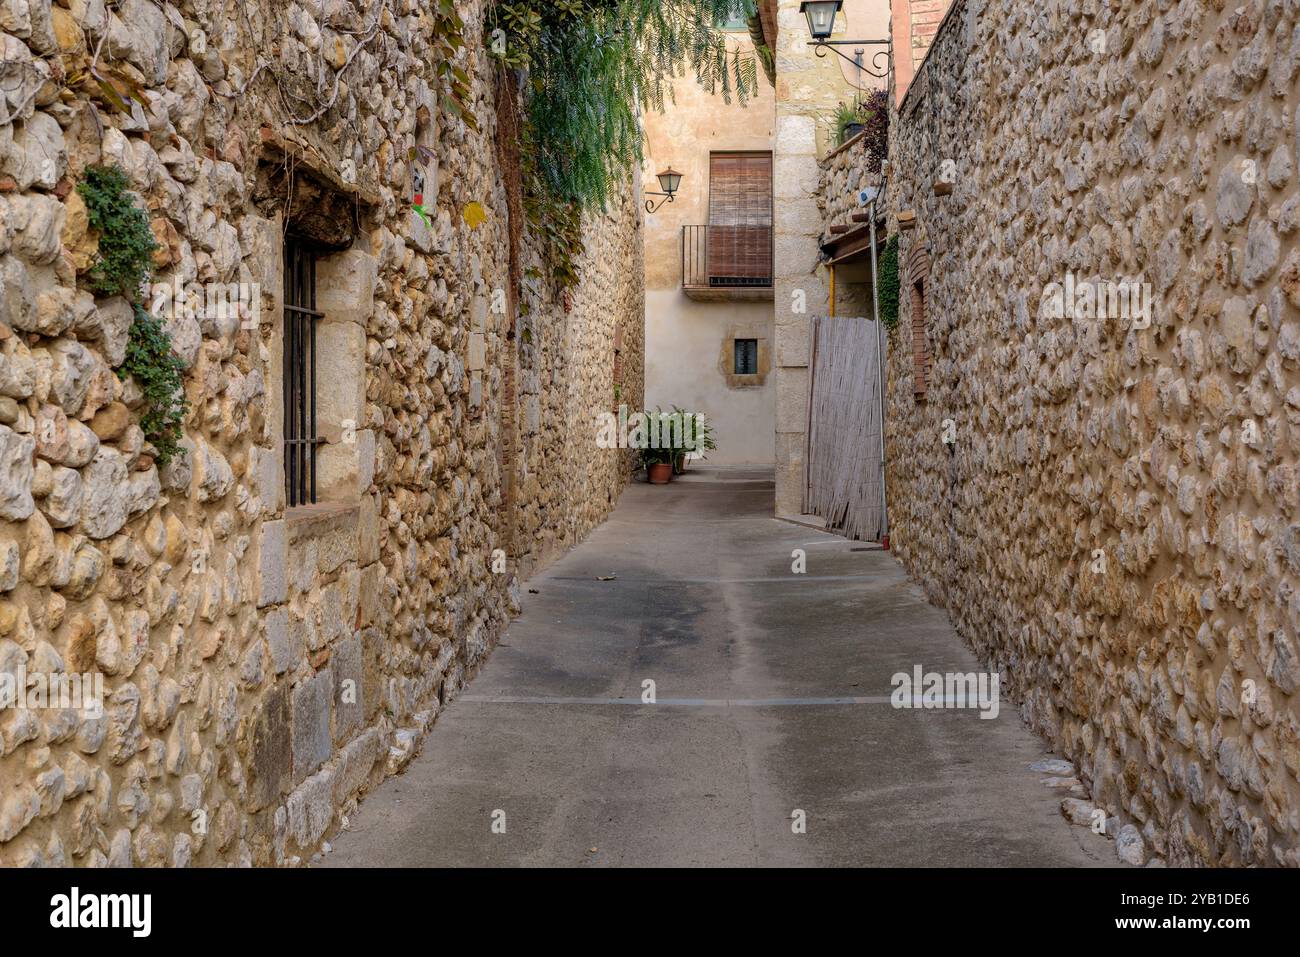
[[966, 0], [893, 125], [894, 554], [1178, 865], [1300, 865], [1297, 66], [1296, 0]]

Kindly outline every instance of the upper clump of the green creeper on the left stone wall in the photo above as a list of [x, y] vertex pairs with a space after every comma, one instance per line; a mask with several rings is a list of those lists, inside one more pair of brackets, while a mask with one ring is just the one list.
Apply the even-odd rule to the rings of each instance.
[[98, 295], [121, 295], [135, 302], [153, 272], [153, 230], [144, 211], [131, 202], [131, 181], [118, 166], [87, 166], [77, 183], [86, 200], [86, 217], [99, 231], [99, 259], [90, 285]]

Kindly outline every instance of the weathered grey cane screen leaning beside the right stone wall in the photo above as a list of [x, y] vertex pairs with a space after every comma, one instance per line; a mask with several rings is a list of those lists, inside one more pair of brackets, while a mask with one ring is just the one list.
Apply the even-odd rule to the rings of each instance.
[[810, 337], [803, 511], [846, 538], [879, 541], [884, 516], [876, 322], [816, 316]]

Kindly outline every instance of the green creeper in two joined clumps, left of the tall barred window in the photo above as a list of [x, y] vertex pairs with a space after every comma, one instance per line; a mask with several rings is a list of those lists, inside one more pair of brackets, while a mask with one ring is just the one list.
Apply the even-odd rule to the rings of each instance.
[[99, 256], [88, 281], [98, 295], [121, 295], [135, 312], [126, 342], [126, 358], [117, 368], [130, 376], [144, 395], [140, 419], [144, 437], [166, 464], [179, 451], [181, 426], [188, 411], [183, 365], [172, 350], [172, 337], [161, 320], [140, 306], [144, 283], [153, 273], [157, 248], [144, 212], [130, 194], [130, 179], [118, 166], [88, 166], [77, 183], [86, 202], [86, 218], [99, 233]]

